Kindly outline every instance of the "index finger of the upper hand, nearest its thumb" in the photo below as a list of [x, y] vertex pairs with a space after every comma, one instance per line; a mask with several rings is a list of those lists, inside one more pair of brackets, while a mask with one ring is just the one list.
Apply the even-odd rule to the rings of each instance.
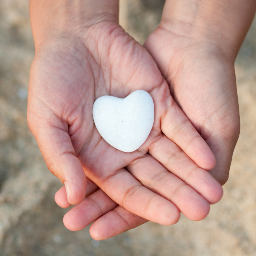
[[105, 179], [95, 176], [94, 172], [88, 177], [127, 211], [162, 225], [172, 225], [179, 220], [180, 211], [173, 203], [145, 188], [126, 169]]

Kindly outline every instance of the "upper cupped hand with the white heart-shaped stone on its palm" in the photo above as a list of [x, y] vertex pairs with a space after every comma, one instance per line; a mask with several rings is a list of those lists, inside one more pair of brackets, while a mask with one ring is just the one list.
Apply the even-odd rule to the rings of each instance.
[[[152, 96], [155, 121], [146, 142], [124, 153], [101, 138], [92, 107], [100, 96], [124, 98], [139, 89]], [[49, 170], [65, 184], [70, 204], [84, 199], [86, 176], [101, 194], [93, 193], [80, 206], [93, 196], [102, 202], [109, 198], [107, 212], [118, 204], [124, 216], [130, 214], [140, 223], [147, 219], [170, 225], [178, 221], [180, 211], [199, 220], [208, 214], [209, 203], [222, 196], [220, 185], [206, 171], [215, 165], [211, 150], [173, 100], [150, 54], [116, 23], [56, 35], [37, 48], [28, 123]], [[116, 209], [104, 215], [104, 223]], [[106, 209], [97, 212], [100, 217]]]

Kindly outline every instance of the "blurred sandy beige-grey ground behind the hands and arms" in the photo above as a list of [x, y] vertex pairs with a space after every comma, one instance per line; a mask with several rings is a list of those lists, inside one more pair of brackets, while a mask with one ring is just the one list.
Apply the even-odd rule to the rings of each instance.
[[[163, 3], [121, 0], [120, 22], [143, 43]], [[33, 55], [28, 0], [0, 0], [0, 256], [256, 256], [256, 20], [236, 61], [241, 135], [221, 202], [203, 221], [147, 223], [101, 242], [67, 230], [54, 202], [62, 184], [26, 122]]]

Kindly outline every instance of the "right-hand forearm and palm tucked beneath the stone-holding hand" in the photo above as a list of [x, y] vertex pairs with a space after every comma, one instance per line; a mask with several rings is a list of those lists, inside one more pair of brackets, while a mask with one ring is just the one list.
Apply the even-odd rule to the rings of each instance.
[[174, 99], [216, 157], [210, 173], [223, 185], [240, 132], [234, 62], [255, 1], [166, 0], [144, 46]]

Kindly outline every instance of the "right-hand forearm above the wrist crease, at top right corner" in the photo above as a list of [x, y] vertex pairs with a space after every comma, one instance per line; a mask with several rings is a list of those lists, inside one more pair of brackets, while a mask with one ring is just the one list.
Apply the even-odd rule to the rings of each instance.
[[255, 0], [166, 0], [160, 27], [209, 41], [235, 60], [255, 10]]

